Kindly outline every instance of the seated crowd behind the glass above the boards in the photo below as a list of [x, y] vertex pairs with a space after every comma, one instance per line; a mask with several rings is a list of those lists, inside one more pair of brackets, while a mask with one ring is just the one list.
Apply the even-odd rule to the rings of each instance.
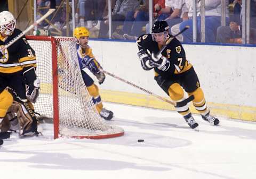
[[[57, 0], [57, 5], [62, 1]], [[153, 21], [166, 20], [172, 35], [188, 25], [190, 28], [177, 38], [193, 42], [193, 0], [111, 0], [111, 37], [136, 40], [141, 34], [149, 33], [149, 1], [153, 1]], [[201, 42], [201, 1], [196, 1], [196, 41]], [[256, 0], [250, 1], [250, 43], [256, 44]], [[49, 0], [37, 0], [40, 14], [47, 11], [42, 7], [49, 7], [49, 3]], [[76, 0], [75, 6], [76, 27], [86, 27], [94, 38], [109, 38], [108, 0]], [[205, 0], [205, 42], [242, 43], [242, 0], [225, 0], [225, 16], [226, 25], [221, 26], [221, 0]], [[44, 21], [41, 24], [44, 28], [65, 28], [65, 7], [48, 19], [52, 21]]]

